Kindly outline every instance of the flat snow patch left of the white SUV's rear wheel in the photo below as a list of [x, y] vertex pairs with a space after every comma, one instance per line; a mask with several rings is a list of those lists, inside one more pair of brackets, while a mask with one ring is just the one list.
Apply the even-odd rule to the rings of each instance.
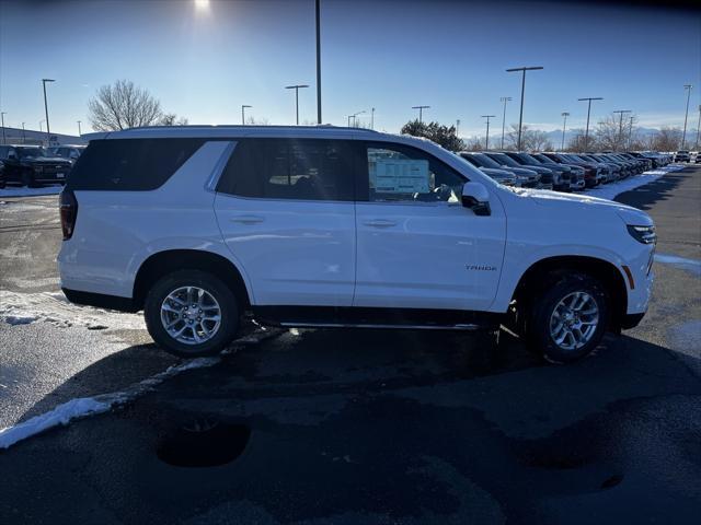
[[108, 312], [68, 302], [61, 292], [21, 293], [0, 290], [0, 322], [26, 325], [42, 320], [60, 327], [143, 329], [138, 314]]

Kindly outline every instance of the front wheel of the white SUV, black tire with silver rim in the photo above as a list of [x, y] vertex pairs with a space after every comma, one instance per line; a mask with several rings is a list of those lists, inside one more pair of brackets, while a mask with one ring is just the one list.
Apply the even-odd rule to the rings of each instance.
[[[597, 279], [586, 273], [559, 273], [550, 284], [531, 303], [526, 323], [527, 343], [549, 361], [571, 363], [591, 353], [601, 341], [608, 325], [609, 295]], [[578, 304], [583, 306], [577, 311]], [[596, 314], [590, 313], [594, 310]], [[555, 340], [553, 331], [564, 337], [562, 343]]]

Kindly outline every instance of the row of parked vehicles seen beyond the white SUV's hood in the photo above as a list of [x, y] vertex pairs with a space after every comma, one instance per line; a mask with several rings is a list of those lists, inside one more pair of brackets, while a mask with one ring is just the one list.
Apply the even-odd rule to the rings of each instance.
[[669, 155], [628, 153], [527, 153], [461, 151], [459, 155], [506, 186], [578, 191], [667, 165]]

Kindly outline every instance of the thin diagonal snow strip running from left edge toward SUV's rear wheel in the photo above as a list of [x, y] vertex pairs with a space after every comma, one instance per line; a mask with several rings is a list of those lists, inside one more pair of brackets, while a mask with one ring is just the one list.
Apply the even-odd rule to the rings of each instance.
[[[241, 339], [233, 341], [232, 346], [244, 343], [258, 343], [265, 339], [276, 336], [279, 330], [271, 330], [266, 328], [258, 328], [255, 332], [248, 335]], [[223, 353], [229, 353], [231, 350], [226, 350]], [[80, 397], [71, 399], [57, 406], [48, 412], [35, 416], [32, 419], [23, 421], [13, 427], [7, 427], [0, 429], [0, 450], [9, 448], [19, 441], [25, 440], [41, 432], [58, 425], [66, 425], [69, 422], [85, 418], [89, 416], [95, 416], [103, 413], [112, 408], [116, 408], [125, 402], [152, 390], [156, 386], [163, 383], [169, 377], [181, 374], [188, 370], [204, 369], [207, 366], [214, 366], [219, 363], [221, 358], [198, 358], [191, 361], [186, 361], [182, 364], [169, 366], [163, 372], [159, 372], [151, 377], [148, 377], [139, 383], [136, 383], [125, 390], [113, 392], [110, 394], [102, 394], [94, 397]]]

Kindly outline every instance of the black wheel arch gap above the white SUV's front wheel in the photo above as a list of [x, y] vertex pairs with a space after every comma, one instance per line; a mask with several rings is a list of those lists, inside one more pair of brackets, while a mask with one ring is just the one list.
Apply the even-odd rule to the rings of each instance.
[[[578, 271], [599, 280], [611, 298], [609, 328], [619, 330], [628, 310], [628, 288], [622, 272], [612, 262], [590, 256], [552, 256], [533, 262], [521, 276], [512, 301], [528, 302], [535, 293], [563, 271]], [[530, 306], [527, 306], [530, 307]]]

